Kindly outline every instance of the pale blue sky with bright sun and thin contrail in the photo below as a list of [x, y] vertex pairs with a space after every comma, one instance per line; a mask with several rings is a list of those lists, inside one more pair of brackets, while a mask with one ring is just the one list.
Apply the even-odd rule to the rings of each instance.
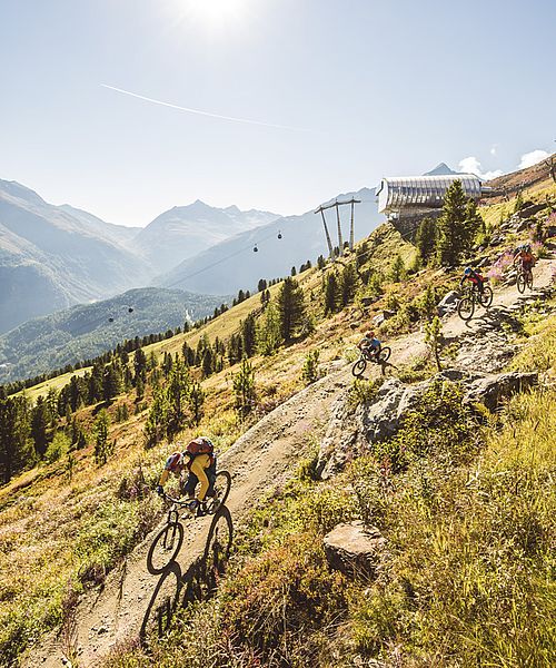
[[556, 149], [554, 26], [553, 0], [0, 0], [0, 178], [142, 226], [513, 170]]

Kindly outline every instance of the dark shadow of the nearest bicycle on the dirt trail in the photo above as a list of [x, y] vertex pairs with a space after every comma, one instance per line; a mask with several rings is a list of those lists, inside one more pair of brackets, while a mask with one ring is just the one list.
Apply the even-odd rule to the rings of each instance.
[[148, 645], [149, 638], [163, 636], [178, 609], [215, 595], [218, 580], [226, 570], [232, 540], [231, 513], [222, 505], [212, 518], [202, 556], [186, 572], [181, 572], [176, 559], [163, 569], [141, 623], [142, 645]]

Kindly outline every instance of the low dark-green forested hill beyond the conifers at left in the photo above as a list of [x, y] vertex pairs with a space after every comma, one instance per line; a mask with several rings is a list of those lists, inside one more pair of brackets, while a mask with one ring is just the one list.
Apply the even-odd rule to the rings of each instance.
[[90, 360], [127, 338], [182, 327], [228, 301], [229, 296], [143, 287], [34, 318], [0, 335], [0, 384]]

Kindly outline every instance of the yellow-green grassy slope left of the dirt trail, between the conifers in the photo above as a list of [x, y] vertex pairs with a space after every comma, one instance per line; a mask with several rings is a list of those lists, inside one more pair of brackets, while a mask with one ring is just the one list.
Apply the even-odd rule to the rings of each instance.
[[[391, 258], [400, 248], [409, 259], [413, 255], [411, 247], [400, 242], [396, 233], [387, 230], [379, 252], [371, 254], [369, 266], [384, 268], [381, 265], [385, 264], [385, 257]], [[306, 293], [319, 291], [321, 273], [310, 269], [304, 273], [299, 281]], [[370, 317], [384, 306], [389, 293], [397, 292], [404, 298], [406, 293], [410, 293], [413, 297], [430, 281], [445, 283], [446, 278], [427, 272], [407, 285], [390, 286], [385, 299], [377, 303], [367, 316]], [[274, 286], [271, 293], [276, 293], [277, 289], [278, 286]], [[315, 312], [321, 312], [319, 302], [311, 305]], [[239, 322], [258, 306], [259, 296], [255, 295], [200, 331], [152, 344], [149, 348], [160, 356], [163, 352], [179, 352], [186, 340], [189, 345], [195, 346], [198, 337], [205, 334], [209, 338], [217, 335], [226, 338], [238, 328]], [[360, 316], [358, 308], [348, 307], [319, 322], [315, 333], [304, 342], [282, 348], [271, 357], [256, 357], [254, 364], [261, 402], [268, 402], [271, 407], [274, 403], [301, 386], [301, 366], [309, 350], [318, 347], [325, 364], [344, 354], [360, 336], [364, 328]], [[220, 446], [226, 446], [245, 429], [246, 425], [237, 423], [232, 411], [230, 371], [234, 372], [226, 369], [222, 373], [203, 381], [208, 392], [207, 418], [198, 430], [186, 430], [182, 438], [202, 432], [212, 436]], [[49, 383], [60, 382], [54, 379]], [[28, 392], [38, 394], [37, 389]], [[117, 403], [131, 404], [131, 399], [122, 396]], [[116, 405], [111, 409], [112, 413]], [[79, 418], [86, 424], [90, 424], [92, 412], [92, 407], [85, 409]], [[4, 602], [0, 651], [1, 648], [6, 651], [10, 645], [17, 649], [16, 638], [20, 639], [20, 647], [23, 647], [46, 628], [58, 623], [68, 582], [72, 582], [71, 587], [79, 589], [90, 581], [101, 580], [102, 571], [111, 568], [157, 521], [157, 510], [150, 497], [118, 499], [116, 494], [121, 479], [129, 478], [138, 462], [142, 463], [147, 483], [152, 487], [160, 463], [168, 452], [168, 445], [149, 452], [143, 451], [141, 430], [145, 419], [146, 413], [142, 413], [123, 424], [112, 426], [110, 435], [118, 442], [117, 456], [101, 469], [92, 464], [89, 446], [75, 453], [77, 463], [71, 481], [64, 470], [64, 463], [58, 462], [23, 473], [0, 490], [0, 537], [2, 546], [8, 548], [0, 552], [0, 591]], [[338, 490], [331, 490], [329, 498], [326, 491], [317, 490], [311, 491], [312, 493], [317, 497], [324, 494], [320, 502], [321, 514], [325, 517], [329, 517], [329, 507], [336, 508], [335, 499], [338, 493], [340, 498], [342, 494]], [[305, 502], [301, 503], [304, 504]], [[340, 514], [338, 511], [337, 517]], [[335, 515], [335, 519], [337, 517]], [[324, 527], [317, 522], [310, 524], [310, 530], [318, 538]], [[286, 532], [288, 531], [289, 529]], [[49, 540], [44, 540], [46, 534], [50, 534]], [[76, 536], [77, 549], [72, 552]], [[312, 549], [318, 552], [315, 546]]]

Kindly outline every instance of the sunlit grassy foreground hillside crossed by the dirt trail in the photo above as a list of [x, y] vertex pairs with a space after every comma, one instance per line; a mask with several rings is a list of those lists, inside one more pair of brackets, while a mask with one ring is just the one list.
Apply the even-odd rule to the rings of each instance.
[[[545, 190], [556, 195], [549, 183]], [[468, 258], [494, 268], [529, 234], [495, 210], [481, 212], [494, 220], [489, 245]], [[547, 206], [540, 225], [548, 215]], [[239, 364], [209, 367], [207, 350], [217, 338], [226, 347], [232, 334], [245, 337], [252, 312], [259, 336], [261, 327], [268, 336], [271, 306], [260, 294], [146, 346], [156, 366], [142, 396], [131, 387], [109, 404], [77, 401], [57, 420], [71, 432], [75, 419], [89, 434], [85, 446], [52, 453], [0, 489], [0, 534], [10, 546], [0, 553], [4, 661], [27, 648], [30, 667], [60, 665], [62, 656], [110, 668], [207, 665], [207, 657], [230, 667], [550, 665], [549, 240], [543, 253], [534, 291], [520, 295], [504, 267], [493, 273], [492, 308], [468, 324], [443, 316], [445, 375], [424, 330], [460, 273], [419, 268], [415, 248], [387, 225], [341, 262], [298, 276], [306, 326], [271, 354], [254, 352], [257, 394], [242, 419], [232, 382]], [[409, 275], [394, 271], [398, 254]], [[354, 272], [355, 293], [342, 287], [327, 310], [330, 278], [345, 286]], [[269, 288], [270, 305], [282, 287]], [[354, 382], [354, 345], [375, 318], [391, 364]], [[205, 350], [207, 373], [197, 362], [189, 373], [206, 399], [199, 424], [189, 416], [172, 438], [207, 434], [222, 452], [236, 533], [230, 552], [225, 513], [212, 531], [210, 518], [188, 524], [178, 560], [152, 577], [145, 556], [163, 508], [151, 490], [176, 445], [161, 438], [145, 449], [143, 428], [156, 418], [153, 396], [176, 382], [179, 366], [175, 375], [170, 366], [185, 343]], [[508, 376], [510, 385], [500, 372], [522, 375]], [[493, 383], [488, 393], [477, 391], [481, 383]], [[116, 442], [106, 463], [95, 461], [102, 407]], [[386, 546], [365, 558], [365, 568], [373, 562], [365, 574], [332, 566], [325, 550], [332, 529], [356, 521]]]

